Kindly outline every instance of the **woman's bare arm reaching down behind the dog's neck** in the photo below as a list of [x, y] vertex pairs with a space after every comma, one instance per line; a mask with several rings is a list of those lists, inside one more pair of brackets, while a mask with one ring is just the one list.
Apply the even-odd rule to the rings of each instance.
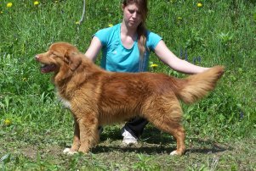
[[85, 56], [95, 61], [97, 58], [97, 55], [100, 52], [101, 47], [102, 45], [99, 38], [94, 36], [90, 46], [88, 47], [88, 50], [85, 52]]

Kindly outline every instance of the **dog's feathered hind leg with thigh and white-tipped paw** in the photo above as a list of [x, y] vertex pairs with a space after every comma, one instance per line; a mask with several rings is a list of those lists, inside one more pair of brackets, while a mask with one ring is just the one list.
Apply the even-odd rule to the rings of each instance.
[[174, 136], [177, 149], [171, 155], [182, 155], [185, 152], [185, 130], [180, 124], [182, 109], [178, 100], [171, 103], [165, 101], [162, 106], [155, 105], [145, 116], [156, 128]]

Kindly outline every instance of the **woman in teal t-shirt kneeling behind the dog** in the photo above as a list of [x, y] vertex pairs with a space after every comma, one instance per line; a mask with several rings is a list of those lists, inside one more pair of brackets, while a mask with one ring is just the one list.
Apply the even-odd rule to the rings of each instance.
[[[122, 23], [96, 32], [85, 55], [95, 61], [102, 50], [101, 67], [115, 72], [143, 72], [147, 70], [149, 55], [156, 56], [169, 67], [185, 74], [196, 74], [202, 68], [177, 58], [162, 41], [162, 37], [145, 29], [147, 0], [123, 0]], [[124, 144], [136, 143], [145, 119], [132, 119], [122, 128]]]

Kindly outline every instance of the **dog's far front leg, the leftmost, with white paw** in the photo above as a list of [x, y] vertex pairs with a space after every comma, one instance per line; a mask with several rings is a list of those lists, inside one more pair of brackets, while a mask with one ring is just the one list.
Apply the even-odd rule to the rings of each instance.
[[68, 154], [74, 154], [76, 152], [78, 152], [78, 149], [80, 147], [80, 130], [79, 130], [79, 125], [77, 123], [77, 119], [74, 117], [74, 137], [73, 137], [73, 144], [71, 146], [71, 148], [65, 148], [65, 150], [63, 151], [64, 153], [68, 153]]

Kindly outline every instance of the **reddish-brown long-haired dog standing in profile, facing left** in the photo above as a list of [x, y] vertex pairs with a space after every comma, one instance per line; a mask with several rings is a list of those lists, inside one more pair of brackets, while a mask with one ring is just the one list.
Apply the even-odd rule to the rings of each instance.
[[173, 135], [177, 149], [170, 154], [184, 154], [185, 130], [179, 100], [193, 103], [205, 97], [225, 69], [215, 66], [185, 79], [149, 72], [109, 72], [67, 42], [56, 42], [35, 58], [43, 64], [42, 73], [54, 73], [57, 94], [73, 115], [73, 144], [64, 151], [69, 154], [87, 153], [97, 145], [100, 125], [134, 117], [145, 118]]

